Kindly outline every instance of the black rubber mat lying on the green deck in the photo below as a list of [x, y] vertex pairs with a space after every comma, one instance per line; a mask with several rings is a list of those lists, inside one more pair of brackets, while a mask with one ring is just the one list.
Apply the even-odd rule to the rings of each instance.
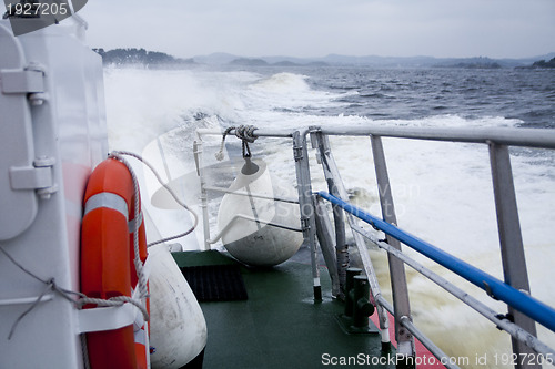
[[200, 303], [248, 298], [238, 265], [205, 265], [180, 269]]

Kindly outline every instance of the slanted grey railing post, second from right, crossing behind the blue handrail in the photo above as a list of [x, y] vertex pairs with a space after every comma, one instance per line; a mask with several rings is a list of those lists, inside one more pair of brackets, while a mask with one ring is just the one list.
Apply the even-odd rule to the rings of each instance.
[[[385, 222], [396, 225], [397, 217], [395, 215], [395, 206], [393, 205], [393, 196], [391, 193], [390, 176], [387, 174], [382, 139], [380, 136], [371, 136], [370, 141], [372, 145], [372, 154], [374, 155], [374, 167], [376, 172], [380, 204], [382, 206], [382, 217]], [[396, 238], [389, 235], [386, 235], [386, 237], [387, 244], [401, 250], [401, 243]], [[405, 266], [402, 260], [391, 254], [387, 254], [387, 260], [390, 264], [393, 308], [395, 311], [395, 336], [398, 342], [397, 351], [401, 355], [414, 356], [414, 338], [412, 334], [401, 324], [402, 319], [408, 319], [412, 321]]]

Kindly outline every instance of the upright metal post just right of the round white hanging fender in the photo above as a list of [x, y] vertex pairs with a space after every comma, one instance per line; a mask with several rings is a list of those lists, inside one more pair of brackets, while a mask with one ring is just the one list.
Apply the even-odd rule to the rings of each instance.
[[321, 301], [322, 286], [316, 259], [316, 222], [314, 219], [314, 205], [312, 203], [309, 150], [306, 147], [307, 134], [309, 131], [295, 131], [293, 133], [293, 157], [295, 160], [299, 205], [301, 207], [301, 228], [303, 229], [304, 242], [311, 248], [314, 300]]

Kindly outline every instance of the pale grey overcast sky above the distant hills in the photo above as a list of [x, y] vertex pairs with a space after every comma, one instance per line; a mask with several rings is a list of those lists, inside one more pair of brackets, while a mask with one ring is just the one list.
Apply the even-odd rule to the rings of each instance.
[[555, 51], [555, 0], [89, 0], [80, 14], [91, 47], [181, 58]]

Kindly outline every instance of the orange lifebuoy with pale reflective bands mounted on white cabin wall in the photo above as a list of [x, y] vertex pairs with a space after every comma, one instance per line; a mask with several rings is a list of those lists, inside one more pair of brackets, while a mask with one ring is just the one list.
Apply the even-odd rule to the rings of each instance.
[[[100, 163], [89, 178], [81, 228], [81, 291], [88, 297], [131, 296], [137, 287], [134, 227], [130, 226], [135, 222], [134, 196], [132, 176], [115, 158]], [[141, 217], [137, 222], [141, 222], [139, 248], [144, 263], [144, 224]], [[142, 326], [135, 331], [133, 326], [87, 334], [91, 368], [147, 368], [148, 330]]]

